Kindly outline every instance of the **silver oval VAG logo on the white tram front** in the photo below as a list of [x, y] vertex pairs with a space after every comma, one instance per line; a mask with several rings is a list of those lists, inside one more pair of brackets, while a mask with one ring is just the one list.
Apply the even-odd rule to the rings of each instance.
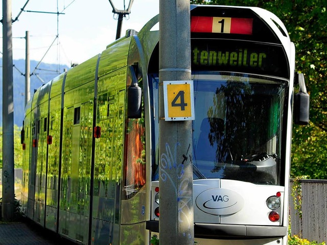
[[236, 191], [213, 188], [202, 191], [195, 200], [196, 206], [203, 212], [213, 215], [228, 215], [240, 211], [244, 199]]

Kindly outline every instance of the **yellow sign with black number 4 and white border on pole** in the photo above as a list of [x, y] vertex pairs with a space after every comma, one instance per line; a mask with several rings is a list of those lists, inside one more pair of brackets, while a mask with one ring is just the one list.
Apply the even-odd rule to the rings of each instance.
[[194, 120], [193, 81], [164, 81], [165, 120]]

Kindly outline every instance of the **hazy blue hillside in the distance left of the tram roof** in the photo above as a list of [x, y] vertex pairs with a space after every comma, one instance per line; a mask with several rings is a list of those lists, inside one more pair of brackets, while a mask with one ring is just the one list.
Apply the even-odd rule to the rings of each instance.
[[[30, 63], [31, 73], [37, 66], [38, 61], [32, 60]], [[2, 66], [2, 58], [0, 59], [0, 65]], [[14, 86], [14, 124], [17, 126], [22, 126], [22, 120], [24, 119], [25, 110], [25, 60], [13, 60], [13, 86]], [[58, 76], [63, 72], [64, 68], [67, 66], [57, 65], [57, 64], [45, 64], [41, 63], [38, 69], [34, 72], [35, 75], [31, 76], [31, 98], [34, 94], [34, 90], [42, 86], [44, 81], [49, 82], [54, 77]], [[22, 74], [23, 75], [22, 75]], [[36, 76], [37, 75], [37, 76]], [[2, 111], [2, 69], [0, 69], [0, 108]], [[42, 81], [41, 81], [42, 80]], [[2, 126], [2, 113], [0, 114], [0, 127]]]

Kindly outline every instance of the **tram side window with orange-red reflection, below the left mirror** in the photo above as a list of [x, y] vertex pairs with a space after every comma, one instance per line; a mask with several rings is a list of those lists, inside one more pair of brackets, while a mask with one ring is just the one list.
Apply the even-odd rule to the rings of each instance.
[[124, 198], [129, 199], [146, 183], [144, 118], [128, 119], [126, 129]]

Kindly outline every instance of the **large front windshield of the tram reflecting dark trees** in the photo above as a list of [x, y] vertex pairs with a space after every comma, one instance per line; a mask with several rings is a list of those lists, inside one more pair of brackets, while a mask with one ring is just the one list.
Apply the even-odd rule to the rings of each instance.
[[[159, 80], [156, 76], [151, 78], [157, 148]], [[193, 178], [279, 184], [288, 82], [222, 72], [194, 74], [192, 80]], [[156, 156], [153, 180], [158, 179], [158, 159]]]

